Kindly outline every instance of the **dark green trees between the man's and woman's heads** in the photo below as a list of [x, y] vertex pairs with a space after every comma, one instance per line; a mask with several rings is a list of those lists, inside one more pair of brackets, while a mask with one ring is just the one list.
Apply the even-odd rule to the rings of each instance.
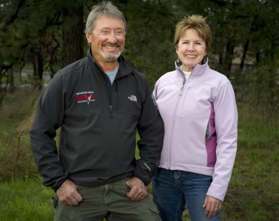
[[[123, 55], [149, 79], [151, 87], [174, 69], [174, 16], [167, 1], [120, 1], [128, 24]], [[137, 11], [135, 12], [135, 8]]]

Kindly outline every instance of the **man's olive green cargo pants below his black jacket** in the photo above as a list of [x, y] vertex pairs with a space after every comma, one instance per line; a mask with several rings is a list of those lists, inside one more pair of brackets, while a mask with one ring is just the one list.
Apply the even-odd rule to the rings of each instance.
[[66, 206], [59, 201], [54, 220], [160, 221], [151, 197], [131, 201], [126, 197], [129, 190], [125, 180], [96, 187], [79, 186], [77, 191], [82, 195], [82, 201], [77, 206]]

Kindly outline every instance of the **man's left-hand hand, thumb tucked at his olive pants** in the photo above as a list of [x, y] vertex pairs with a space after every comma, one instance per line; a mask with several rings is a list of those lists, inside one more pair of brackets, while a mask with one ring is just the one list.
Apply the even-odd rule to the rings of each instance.
[[82, 196], [77, 192], [77, 184], [73, 181], [65, 181], [56, 191], [56, 195], [63, 204], [68, 206], [77, 206], [82, 201]]

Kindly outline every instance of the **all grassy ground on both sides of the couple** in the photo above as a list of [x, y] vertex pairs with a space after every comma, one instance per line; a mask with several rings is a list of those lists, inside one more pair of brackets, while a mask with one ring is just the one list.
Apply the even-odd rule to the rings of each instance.
[[[54, 192], [41, 184], [29, 148], [30, 116], [37, 96], [28, 90], [16, 91], [6, 97], [0, 112], [0, 220], [54, 217], [50, 204]], [[278, 116], [266, 120], [264, 112], [241, 103], [238, 106], [238, 152], [223, 204], [223, 220], [277, 220]], [[189, 220], [187, 211], [184, 220]]]

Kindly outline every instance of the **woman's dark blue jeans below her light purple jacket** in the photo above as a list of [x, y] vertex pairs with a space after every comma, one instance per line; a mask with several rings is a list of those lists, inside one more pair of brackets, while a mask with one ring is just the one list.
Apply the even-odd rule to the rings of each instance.
[[153, 201], [163, 221], [182, 221], [187, 204], [192, 221], [219, 221], [220, 213], [213, 218], [204, 215], [204, 199], [212, 176], [158, 168], [152, 178]]

